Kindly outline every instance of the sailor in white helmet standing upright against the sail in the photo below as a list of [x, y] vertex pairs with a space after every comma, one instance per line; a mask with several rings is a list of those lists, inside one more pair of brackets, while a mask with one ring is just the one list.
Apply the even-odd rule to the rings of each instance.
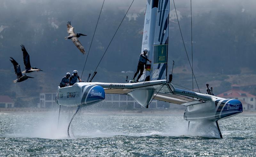
[[148, 59], [148, 49], [144, 49], [143, 52], [140, 53], [140, 59], [139, 59], [137, 71], [134, 74], [132, 81], [135, 81], [135, 77], [140, 72], [140, 74], [136, 80], [136, 82], [139, 82], [140, 76], [143, 74], [144, 66], [146, 65], [147, 61], [149, 61], [151, 63], [151, 61]]

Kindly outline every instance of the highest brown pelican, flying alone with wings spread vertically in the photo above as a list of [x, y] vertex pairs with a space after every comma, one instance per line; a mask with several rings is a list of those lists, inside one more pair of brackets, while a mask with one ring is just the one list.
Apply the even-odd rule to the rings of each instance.
[[76, 47], [84, 54], [85, 53], [84, 46], [79, 42], [78, 38], [81, 35], [83, 35], [83, 36], [87, 36], [87, 35], [84, 35], [82, 33], [75, 33], [74, 27], [71, 26], [70, 21], [68, 21], [67, 27], [68, 27], [67, 28], [68, 36], [65, 37], [65, 39], [71, 39], [73, 41], [73, 43], [76, 45]]

